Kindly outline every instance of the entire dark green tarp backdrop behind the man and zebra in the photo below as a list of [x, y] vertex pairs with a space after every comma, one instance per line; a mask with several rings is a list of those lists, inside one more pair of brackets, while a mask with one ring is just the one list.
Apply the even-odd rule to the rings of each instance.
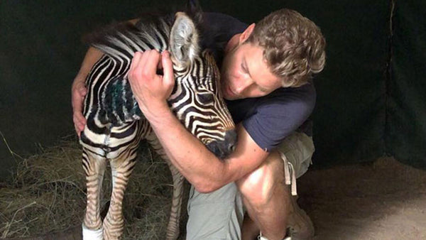
[[[185, 1], [0, 1], [0, 179], [18, 157], [73, 133], [70, 86], [84, 33]], [[426, 4], [415, 1], [200, 1], [256, 22], [280, 8], [315, 21], [327, 38], [312, 118], [315, 166], [383, 155], [426, 168]], [[391, 54], [392, 53], [392, 54]], [[16, 160], [14, 160], [16, 159]]]

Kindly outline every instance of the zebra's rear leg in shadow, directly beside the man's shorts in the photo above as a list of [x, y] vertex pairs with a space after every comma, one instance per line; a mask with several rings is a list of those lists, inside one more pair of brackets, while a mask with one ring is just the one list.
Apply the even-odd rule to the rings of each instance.
[[175, 240], [179, 236], [179, 222], [180, 222], [180, 212], [182, 209], [182, 195], [183, 195], [183, 178], [182, 174], [179, 173], [178, 169], [170, 162], [168, 156], [165, 154], [163, 147], [158, 141], [155, 133], [151, 133], [146, 137], [148, 143], [154, 148], [155, 152], [160, 155], [163, 160], [168, 164], [170, 172], [173, 177], [173, 200], [172, 207], [170, 209], [170, 218], [166, 229], [166, 240]]

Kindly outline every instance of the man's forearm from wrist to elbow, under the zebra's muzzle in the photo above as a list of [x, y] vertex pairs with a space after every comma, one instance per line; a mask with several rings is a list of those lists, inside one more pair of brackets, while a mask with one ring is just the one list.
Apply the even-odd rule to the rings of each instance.
[[211, 192], [229, 180], [226, 161], [213, 153], [180, 124], [171, 110], [161, 118], [151, 118], [157, 134], [173, 165], [200, 192]]

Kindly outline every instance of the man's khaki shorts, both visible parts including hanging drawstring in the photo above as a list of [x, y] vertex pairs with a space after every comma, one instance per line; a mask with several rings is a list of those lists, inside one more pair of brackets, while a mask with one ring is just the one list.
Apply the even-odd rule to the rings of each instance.
[[[292, 185], [295, 194], [295, 178], [306, 173], [315, 151], [312, 138], [295, 132], [285, 138], [277, 150], [285, 163], [286, 183]], [[234, 182], [209, 193], [200, 193], [191, 187], [187, 212], [186, 239], [241, 239], [244, 207]]]

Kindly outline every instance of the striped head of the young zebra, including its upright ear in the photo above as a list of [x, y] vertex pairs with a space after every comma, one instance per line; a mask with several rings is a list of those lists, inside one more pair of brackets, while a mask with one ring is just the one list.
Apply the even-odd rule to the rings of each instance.
[[168, 99], [185, 127], [219, 158], [234, 149], [236, 131], [220, 91], [220, 73], [209, 50], [200, 50], [195, 23], [176, 13], [170, 30], [169, 50], [175, 88]]

